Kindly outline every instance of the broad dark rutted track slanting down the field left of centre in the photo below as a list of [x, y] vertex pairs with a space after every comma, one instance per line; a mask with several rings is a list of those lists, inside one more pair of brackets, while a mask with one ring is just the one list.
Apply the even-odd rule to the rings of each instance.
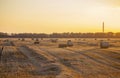
[[36, 72], [36, 75], [58, 75], [61, 73], [61, 68], [57, 64], [51, 63], [47, 57], [38, 54], [27, 46], [19, 47], [19, 49], [35, 67], [35, 70], [30, 73]]

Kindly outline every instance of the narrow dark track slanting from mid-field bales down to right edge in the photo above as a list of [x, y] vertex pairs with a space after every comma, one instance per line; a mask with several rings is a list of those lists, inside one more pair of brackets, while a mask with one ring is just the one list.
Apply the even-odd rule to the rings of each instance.
[[[98, 60], [98, 59], [95, 59], [94, 57], [92, 57], [92, 56], [90, 56], [90, 55], [88, 55], [88, 54], [85, 54], [84, 51], [75, 51], [75, 50], [71, 50], [71, 49], [66, 49], [66, 50], [73, 51], [73, 52], [75, 52], [75, 53], [77, 53], [77, 54], [81, 54], [81, 55], [83, 55], [83, 56], [85, 56], [85, 57], [87, 57], [87, 58], [89, 58], [89, 59], [92, 59], [93, 61], [95, 61], [95, 62], [97, 62], [97, 63], [99, 63], [99, 64], [106, 65], [106, 66], [109, 66], [109, 67], [111, 67], [111, 68], [113, 68], [113, 69], [116, 69], [116, 70], [119, 70], [119, 71], [120, 71], [120, 68], [119, 68], [119, 67], [115, 67], [115, 66], [113, 66], [113, 65], [110, 65], [110, 64], [105, 63], [105, 62], [103, 62], [103, 61], [100, 61], [100, 60]], [[85, 51], [85, 52], [89, 52], [89, 50], [88, 50], [88, 51]]]

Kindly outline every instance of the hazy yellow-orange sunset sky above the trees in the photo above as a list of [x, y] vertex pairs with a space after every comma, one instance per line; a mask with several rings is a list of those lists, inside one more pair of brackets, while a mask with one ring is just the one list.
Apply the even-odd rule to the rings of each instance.
[[0, 32], [120, 31], [120, 0], [0, 0]]

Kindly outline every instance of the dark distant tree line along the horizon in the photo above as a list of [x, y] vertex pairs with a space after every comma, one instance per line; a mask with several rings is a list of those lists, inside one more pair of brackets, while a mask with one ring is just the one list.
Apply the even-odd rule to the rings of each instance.
[[0, 32], [0, 38], [120, 38], [120, 32], [113, 33], [52, 33], [52, 34], [45, 34], [45, 33], [3, 33]]

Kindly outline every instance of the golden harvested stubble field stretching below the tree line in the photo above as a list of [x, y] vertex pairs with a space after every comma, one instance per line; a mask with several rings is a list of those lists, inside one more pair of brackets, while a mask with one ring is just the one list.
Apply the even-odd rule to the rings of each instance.
[[[120, 78], [119, 39], [110, 39], [113, 46], [101, 49], [101, 39], [0, 39], [0, 78]], [[72, 40], [72, 47], [59, 48]], [[107, 40], [107, 39], [104, 39]]]

